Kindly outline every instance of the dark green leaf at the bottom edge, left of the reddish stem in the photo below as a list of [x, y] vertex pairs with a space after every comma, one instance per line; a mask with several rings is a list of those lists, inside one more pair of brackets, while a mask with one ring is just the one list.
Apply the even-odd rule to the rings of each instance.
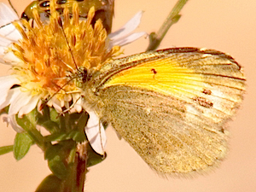
[[49, 175], [44, 178], [42, 183], [39, 184], [38, 189], [36, 189], [36, 192], [61, 192], [61, 183], [63, 181], [56, 177], [55, 175]]

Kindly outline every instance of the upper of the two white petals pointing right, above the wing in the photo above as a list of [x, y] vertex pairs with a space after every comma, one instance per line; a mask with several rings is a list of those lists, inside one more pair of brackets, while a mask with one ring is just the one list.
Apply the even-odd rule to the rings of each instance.
[[117, 32], [112, 32], [108, 35], [108, 38], [110, 39], [118, 39], [123, 38], [133, 32], [137, 26], [139, 26], [141, 19], [143, 16], [143, 11], [138, 12], [136, 15], [134, 15], [131, 20], [129, 20], [125, 26], [122, 26]]

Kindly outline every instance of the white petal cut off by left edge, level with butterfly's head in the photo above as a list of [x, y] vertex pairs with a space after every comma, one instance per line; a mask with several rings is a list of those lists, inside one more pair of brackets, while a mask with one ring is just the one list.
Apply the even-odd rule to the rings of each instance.
[[14, 84], [20, 84], [20, 81], [13, 75], [0, 77], [0, 109], [5, 108], [9, 103], [7, 97], [9, 96], [9, 90]]

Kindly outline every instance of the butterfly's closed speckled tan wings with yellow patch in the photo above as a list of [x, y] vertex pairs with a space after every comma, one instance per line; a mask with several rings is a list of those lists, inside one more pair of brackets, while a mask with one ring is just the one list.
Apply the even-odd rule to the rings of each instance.
[[164, 49], [113, 61], [95, 75], [99, 113], [157, 172], [202, 172], [224, 159], [224, 125], [245, 91], [230, 55]]

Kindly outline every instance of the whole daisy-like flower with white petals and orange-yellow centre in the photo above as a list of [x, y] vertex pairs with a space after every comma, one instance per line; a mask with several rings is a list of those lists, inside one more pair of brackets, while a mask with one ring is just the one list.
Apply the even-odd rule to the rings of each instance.
[[[90, 25], [93, 16], [94, 10], [90, 9], [87, 20], [79, 20], [78, 7], [73, 6], [72, 19], [68, 10], [64, 10], [63, 26], [55, 11], [49, 24], [44, 24], [38, 14], [34, 15], [37, 26], [32, 27], [0, 3], [0, 62], [12, 67], [10, 75], [0, 78], [0, 110], [9, 106], [7, 121], [16, 131], [22, 128], [14, 122], [15, 115], [21, 118], [45, 100], [44, 104], [58, 113], [63, 113], [63, 108], [80, 113], [83, 108], [78, 84], [83, 76], [78, 77], [78, 73], [83, 73], [83, 68], [101, 67], [119, 55], [120, 46], [145, 35], [145, 32], [132, 33], [140, 23], [142, 12], [109, 35], [101, 20], [94, 27]], [[90, 114], [86, 136], [92, 148], [104, 154], [103, 125], [96, 113], [86, 111]]]

